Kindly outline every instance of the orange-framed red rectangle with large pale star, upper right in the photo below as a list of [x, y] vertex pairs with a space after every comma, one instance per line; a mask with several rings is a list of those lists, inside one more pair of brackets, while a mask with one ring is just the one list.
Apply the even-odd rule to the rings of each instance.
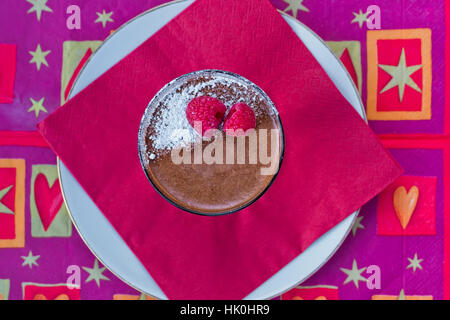
[[367, 32], [369, 120], [431, 119], [431, 30]]

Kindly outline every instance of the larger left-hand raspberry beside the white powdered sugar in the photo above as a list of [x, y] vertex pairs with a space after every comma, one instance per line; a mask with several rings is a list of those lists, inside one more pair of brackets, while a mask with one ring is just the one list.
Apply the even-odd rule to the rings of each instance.
[[[208, 129], [217, 129], [222, 122], [227, 107], [216, 98], [201, 96], [191, 100], [186, 108], [186, 118], [189, 124], [195, 127], [195, 122], [201, 122], [202, 136]], [[197, 124], [198, 125], [198, 124]], [[198, 131], [199, 128], [196, 128]]]

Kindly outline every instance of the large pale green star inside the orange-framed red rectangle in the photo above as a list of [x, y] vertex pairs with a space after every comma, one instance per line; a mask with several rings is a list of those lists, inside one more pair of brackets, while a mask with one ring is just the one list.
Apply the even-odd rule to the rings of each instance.
[[389, 89], [392, 89], [396, 86], [398, 86], [398, 93], [400, 96], [400, 102], [403, 101], [403, 95], [405, 93], [405, 86], [408, 85], [414, 90], [418, 92], [422, 92], [420, 90], [419, 86], [411, 79], [411, 75], [422, 68], [422, 65], [415, 65], [415, 66], [406, 66], [406, 59], [405, 59], [405, 48], [402, 49], [402, 53], [400, 55], [400, 60], [398, 62], [397, 66], [389, 66], [389, 65], [378, 65], [382, 70], [389, 73], [389, 75], [392, 77], [391, 81], [383, 88], [383, 90], [380, 91], [380, 93], [386, 92]]

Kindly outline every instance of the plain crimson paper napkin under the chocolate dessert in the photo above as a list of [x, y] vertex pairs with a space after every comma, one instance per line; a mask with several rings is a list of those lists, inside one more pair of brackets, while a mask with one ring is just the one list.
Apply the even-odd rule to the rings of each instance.
[[[255, 82], [285, 131], [274, 184], [220, 217], [169, 204], [137, 150], [150, 99], [201, 69]], [[401, 173], [267, 0], [196, 1], [39, 129], [171, 299], [244, 298]]]

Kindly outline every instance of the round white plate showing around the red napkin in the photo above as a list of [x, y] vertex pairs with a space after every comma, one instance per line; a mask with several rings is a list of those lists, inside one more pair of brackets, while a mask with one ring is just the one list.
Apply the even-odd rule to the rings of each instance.
[[[91, 56], [79, 74], [70, 97], [79, 93], [133, 51], [192, 2], [193, 0], [176, 1], [154, 8], [114, 32]], [[291, 16], [281, 14], [322, 65], [339, 91], [365, 119], [358, 91], [344, 66], [314, 32]], [[167, 299], [69, 170], [60, 161], [58, 164], [61, 190], [73, 223], [94, 255], [105, 267], [132, 287], [153, 297]], [[357, 214], [358, 211], [354, 212], [324, 234], [296, 259], [256, 288], [246, 299], [274, 297], [306, 280], [336, 252], [349, 233]]]

